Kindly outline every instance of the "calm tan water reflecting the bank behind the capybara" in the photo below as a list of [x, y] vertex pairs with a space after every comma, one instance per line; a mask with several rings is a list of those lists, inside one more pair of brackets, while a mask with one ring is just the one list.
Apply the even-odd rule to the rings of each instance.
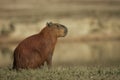
[[[0, 67], [12, 65], [17, 44], [0, 45]], [[58, 42], [53, 55], [53, 65], [120, 63], [120, 42]]]

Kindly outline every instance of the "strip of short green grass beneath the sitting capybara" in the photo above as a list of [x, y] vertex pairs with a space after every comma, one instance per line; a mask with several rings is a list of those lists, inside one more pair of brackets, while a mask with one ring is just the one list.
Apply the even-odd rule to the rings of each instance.
[[0, 69], [0, 80], [120, 80], [120, 66], [74, 66], [29, 70]]

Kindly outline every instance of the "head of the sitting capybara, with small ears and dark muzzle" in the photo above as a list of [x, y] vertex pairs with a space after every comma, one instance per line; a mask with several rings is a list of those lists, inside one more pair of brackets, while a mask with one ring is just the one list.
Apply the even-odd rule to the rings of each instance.
[[47, 27], [49, 27], [54, 33], [56, 33], [57, 37], [65, 37], [67, 35], [67, 28], [59, 23], [47, 23]]

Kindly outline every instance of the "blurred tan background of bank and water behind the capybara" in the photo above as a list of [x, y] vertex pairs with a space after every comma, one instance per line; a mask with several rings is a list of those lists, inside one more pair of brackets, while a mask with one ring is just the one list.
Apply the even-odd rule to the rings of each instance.
[[61, 23], [53, 65], [120, 64], [120, 0], [0, 0], [0, 67], [47, 22]]

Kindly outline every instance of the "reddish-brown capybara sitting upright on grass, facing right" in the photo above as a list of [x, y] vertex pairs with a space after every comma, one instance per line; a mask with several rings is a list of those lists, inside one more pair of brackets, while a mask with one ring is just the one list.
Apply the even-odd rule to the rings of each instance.
[[52, 56], [58, 37], [67, 34], [67, 28], [58, 23], [47, 23], [40, 33], [24, 39], [14, 51], [13, 69], [39, 68], [52, 64]]

